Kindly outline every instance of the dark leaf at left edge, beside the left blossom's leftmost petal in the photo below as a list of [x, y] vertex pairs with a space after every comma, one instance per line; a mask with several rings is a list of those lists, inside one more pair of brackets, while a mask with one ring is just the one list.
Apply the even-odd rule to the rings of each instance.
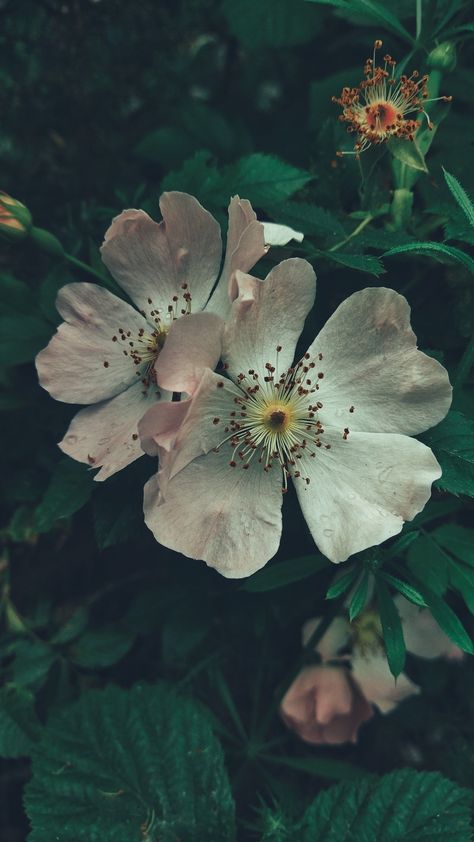
[[51, 338], [51, 325], [21, 313], [0, 318], [0, 364], [20, 365], [34, 360]]

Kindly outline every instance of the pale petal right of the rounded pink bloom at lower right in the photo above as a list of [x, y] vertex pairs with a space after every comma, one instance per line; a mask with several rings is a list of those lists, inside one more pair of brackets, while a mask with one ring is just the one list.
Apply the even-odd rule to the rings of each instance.
[[385, 652], [381, 649], [365, 654], [355, 649], [352, 655], [352, 677], [365, 698], [377, 705], [382, 713], [388, 713], [403, 699], [420, 692], [420, 688], [404, 673], [395, 681]]

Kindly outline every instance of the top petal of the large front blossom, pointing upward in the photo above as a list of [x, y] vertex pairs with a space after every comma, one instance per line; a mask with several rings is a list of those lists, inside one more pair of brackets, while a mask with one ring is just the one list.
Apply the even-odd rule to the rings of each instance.
[[312, 267], [294, 257], [275, 266], [265, 281], [240, 272], [235, 278], [239, 295], [232, 305], [222, 355], [230, 374], [247, 374], [249, 369], [261, 374], [266, 363], [279, 373], [285, 371], [293, 362], [296, 343], [314, 303]]

